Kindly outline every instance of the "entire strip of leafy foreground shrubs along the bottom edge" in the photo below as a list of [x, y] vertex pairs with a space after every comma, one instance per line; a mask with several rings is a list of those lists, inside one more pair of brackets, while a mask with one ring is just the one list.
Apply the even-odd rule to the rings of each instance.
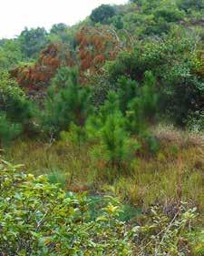
[[46, 176], [21, 169], [0, 161], [5, 255], [202, 255], [203, 235], [193, 225], [196, 209], [185, 203], [152, 207], [141, 226], [126, 226], [118, 200], [105, 197], [93, 216], [85, 194], [66, 194]]

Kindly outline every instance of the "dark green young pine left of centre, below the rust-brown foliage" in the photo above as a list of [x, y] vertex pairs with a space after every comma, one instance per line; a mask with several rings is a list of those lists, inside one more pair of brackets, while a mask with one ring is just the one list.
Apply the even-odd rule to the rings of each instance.
[[76, 70], [62, 67], [48, 90], [43, 126], [54, 136], [69, 128], [71, 122], [83, 126], [90, 108], [89, 88], [79, 85]]

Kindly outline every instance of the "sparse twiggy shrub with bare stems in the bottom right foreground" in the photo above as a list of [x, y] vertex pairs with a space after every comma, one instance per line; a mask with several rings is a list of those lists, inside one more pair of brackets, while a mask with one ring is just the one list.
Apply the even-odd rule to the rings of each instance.
[[182, 202], [169, 206], [152, 207], [145, 221], [148, 224], [134, 228], [138, 255], [194, 255], [187, 238], [197, 217], [196, 208], [188, 209]]

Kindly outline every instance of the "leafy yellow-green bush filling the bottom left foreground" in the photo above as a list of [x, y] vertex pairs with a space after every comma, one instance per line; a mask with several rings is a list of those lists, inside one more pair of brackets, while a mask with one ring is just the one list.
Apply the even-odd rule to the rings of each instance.
[[5, 255], [131, 255], [120, 205], [107, 198], [89, 219], [89, 200], [0, 162], [0, 251]]

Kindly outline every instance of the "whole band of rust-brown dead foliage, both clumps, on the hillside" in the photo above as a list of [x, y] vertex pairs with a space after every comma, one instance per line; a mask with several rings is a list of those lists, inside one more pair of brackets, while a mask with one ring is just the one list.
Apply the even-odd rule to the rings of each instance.
[[109, 26], [84, 26], [76, 35], [76, 41], [78, 47], [74, 54], [66, 44], [53, 43], [42, 50], [33, 66], [17, 67], [11, 70], [11, 76], [30, 97], [42, 98], [59, 67], [78, 65], [80, 82], [92, 84], [92, 75], [102, 73], [106, 60], [113, 60], [121, 50], [127, 50]]

